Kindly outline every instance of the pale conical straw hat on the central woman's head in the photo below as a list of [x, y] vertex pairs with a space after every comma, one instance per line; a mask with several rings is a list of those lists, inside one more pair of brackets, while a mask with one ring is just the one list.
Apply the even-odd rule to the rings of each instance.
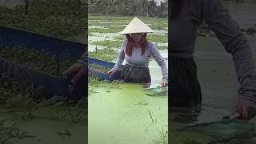
[[124, 34], [134, 34], [134, 33], [154, 33], [154, 30], [150, 29], [149, 26], [146, 26], [144, 22], [135, 17], [129, 25], [126, 26], [120, 35]]

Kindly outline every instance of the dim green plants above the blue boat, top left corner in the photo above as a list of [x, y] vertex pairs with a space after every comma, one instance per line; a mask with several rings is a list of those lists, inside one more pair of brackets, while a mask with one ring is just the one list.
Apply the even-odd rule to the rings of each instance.
[[69, 38], [86, 33], [86, 9], [77, 0], [30, 0], [28, 14], [25, 6], [0, 7], [0, 25]]

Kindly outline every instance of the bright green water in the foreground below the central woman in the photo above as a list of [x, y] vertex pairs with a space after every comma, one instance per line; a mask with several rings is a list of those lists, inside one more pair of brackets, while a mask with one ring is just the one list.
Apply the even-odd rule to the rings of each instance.
[[97, 87], [98, 93], [89, 96], [89, 143], [154, 144], [161, 140], [162, 129], [168, 129], [167, 97], [147, 96], [141, 85], [122, 83], [120, 87]]

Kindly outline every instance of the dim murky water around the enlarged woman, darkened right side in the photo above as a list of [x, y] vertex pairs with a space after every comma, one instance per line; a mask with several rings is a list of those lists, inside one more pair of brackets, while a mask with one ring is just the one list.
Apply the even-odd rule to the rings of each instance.
[[[231, 15], [242, 28], [256, 24], [256, 6], [229, 6]], [[256, 62], [256, 38], [249, 37], [250, 46]], [[198, 78], [202, 86], [201, 110], [178, 110], [170, 114], [172, 128], [178, 128], [195, 123], [219, 121], [224, 115], [234, 110], [238, 98], [238, 80], [234, 63], [217, 38], [198, 37], [194, 53], [198, 64]], [[254, 143], [255, 138], [242, 136], [224, 143]]]

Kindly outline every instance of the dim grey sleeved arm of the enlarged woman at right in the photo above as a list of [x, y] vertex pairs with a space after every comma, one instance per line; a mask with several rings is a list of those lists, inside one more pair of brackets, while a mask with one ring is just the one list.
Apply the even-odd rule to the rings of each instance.
[[238, 23], [221, 0], [202, 0], [202, 18], [232, 54], [240, 88], [238, 96], [256, 103], [256, 70], [253, 53]]

